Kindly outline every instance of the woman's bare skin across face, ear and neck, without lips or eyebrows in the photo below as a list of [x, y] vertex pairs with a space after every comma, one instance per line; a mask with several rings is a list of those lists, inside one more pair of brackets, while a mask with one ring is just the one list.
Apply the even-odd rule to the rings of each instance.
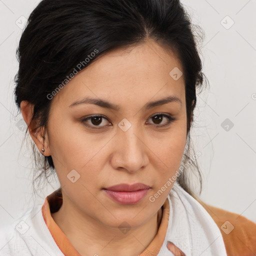
[[[169, 75], [174, 67], [182, 70], [176, 56], [151, 40], [112, 50], [76, 74], [51, 99], [45, 140], [31, 131], [35, 121], [29, 125], [38, 150], [44, 148], [43, 154], [52, 156], [62, 187], [63, 204], [52, 217], [81, 255], [138, 255], [157, 233], [161, 206], [173, 183], [154, 202], [149, 196], [178, 170], [187, 135], [185, 85], [183, 76], [174, 80]], [[143, 109], [148, 101], [171, 95], [182, 103]], [[69, 107], [85, 96], [107, 100], [120, 110], [95, 104]], [[21, 102], [27, 124], [32, 107]], [[157, 121], [156, 113], [176, 120], [161, 127], [168, 119], [162, 116]], [[106, 119], [82, 121], [92, 114]], [[126, 131], [118, 126], [123, 118], [131, 123]], [[80, 175], [75, 182], [67, 178], [72, 169]], [[102, 190], [136, 182], [151, 188], [133, 205], [121, 205]], [[119, 225], [129, 230], [122, 232]]]

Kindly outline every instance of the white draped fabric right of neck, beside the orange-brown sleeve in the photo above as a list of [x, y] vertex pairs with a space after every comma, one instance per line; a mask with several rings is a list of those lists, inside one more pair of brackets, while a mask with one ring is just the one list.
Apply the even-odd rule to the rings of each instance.
[[157, 256], [174, 255], [167, 249], [167, 241], [174, 243], [185, 256], [226, 256], [218, 226], [196, 199], [177, 182], [167, 198], [170, 209], [168, 227]]

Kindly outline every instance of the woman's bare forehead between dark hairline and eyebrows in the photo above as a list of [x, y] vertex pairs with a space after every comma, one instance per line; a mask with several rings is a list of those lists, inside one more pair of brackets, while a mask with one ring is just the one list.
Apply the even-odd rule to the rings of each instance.
[[93, 96], [118, 104], [124, 100], [157, 99], [167, 94], [184, 98], [183, 75], [177, 80], [170, 75], [175, 68], [182, 72], [175, 54], [153, 41], [114, 49], [79, 71], [53, 99], [68, 104]]

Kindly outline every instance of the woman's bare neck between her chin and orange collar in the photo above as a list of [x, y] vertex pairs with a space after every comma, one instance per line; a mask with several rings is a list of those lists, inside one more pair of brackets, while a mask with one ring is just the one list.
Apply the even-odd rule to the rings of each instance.
[[123, 232], [82, 214], [74, 205], [69, 207], [65, 197], [59, 210], [51, 216], [79, 254], [130, 256], [140, 254], [153, 240], [161, 222], [162, 208], [147, 222]]

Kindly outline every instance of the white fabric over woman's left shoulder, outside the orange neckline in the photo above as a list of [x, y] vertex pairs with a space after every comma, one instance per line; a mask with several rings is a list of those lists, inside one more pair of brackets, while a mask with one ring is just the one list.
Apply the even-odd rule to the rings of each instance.
[[41, 206], [34, 206], [12, 223], [0, 226], [0, 256], [64, 256], [44, 222]]

